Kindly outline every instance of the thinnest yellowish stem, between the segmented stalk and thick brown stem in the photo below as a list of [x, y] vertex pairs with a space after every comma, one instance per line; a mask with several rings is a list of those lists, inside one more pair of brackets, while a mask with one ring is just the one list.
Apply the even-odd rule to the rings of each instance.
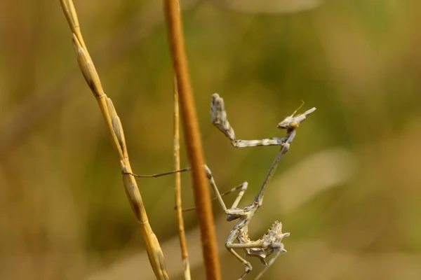
[[[174, 169], [180, 169], [180, 113], [178, 110], [177, 78], [174, 77]], [[187, 251], [186, 233], [182, 218], [181, 174], [175, 173], [175, 210], [177, 211], [178, 237], [180, 239], [181, 258], [184, 266], [185, 280], [190, 280], [190, 262]]]

